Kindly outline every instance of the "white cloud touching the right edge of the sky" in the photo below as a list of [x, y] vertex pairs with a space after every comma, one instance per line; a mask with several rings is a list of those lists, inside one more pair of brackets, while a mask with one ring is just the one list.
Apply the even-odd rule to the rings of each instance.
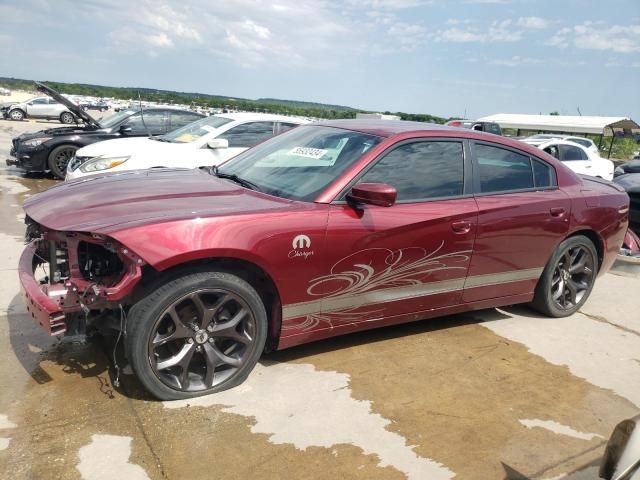
[[613, 25], [584, 22], [563, 28], [546, 42], [549, 46], [573, 46], [588, 50], [609, 50], [616, 53], [640, 52], [640, 25]]

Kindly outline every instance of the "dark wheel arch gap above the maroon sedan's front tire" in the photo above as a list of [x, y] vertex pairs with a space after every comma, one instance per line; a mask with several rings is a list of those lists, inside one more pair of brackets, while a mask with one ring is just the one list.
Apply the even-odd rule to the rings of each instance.
[[182, 263], [174, 263], [163, 270], [146, 267], [142, 282], [133, 293], [133, 302], [139, 300], [161, 283], [186, 273], [217, 271], [237, 275], [251, 285], [260, 296], [267, 312], [269, 331], [267, 332], [266, 351], [276, 350], [280, 340], [282, 325], [282, 303], [280, 292], [273, 276], [256, 262], [233, 256], [203, 257]]

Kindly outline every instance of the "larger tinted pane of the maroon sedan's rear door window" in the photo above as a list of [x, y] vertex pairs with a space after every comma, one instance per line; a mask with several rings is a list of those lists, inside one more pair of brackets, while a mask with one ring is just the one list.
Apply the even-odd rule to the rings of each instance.
[[535, 188], [528, 156], [505, 148], [475, 144], [481, 193]]

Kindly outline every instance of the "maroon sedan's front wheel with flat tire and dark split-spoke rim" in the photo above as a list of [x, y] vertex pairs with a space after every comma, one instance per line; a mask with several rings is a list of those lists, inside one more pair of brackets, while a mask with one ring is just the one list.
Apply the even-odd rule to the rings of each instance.
[[207, 395], [242, 383], [267, 338], [254, 288], [223, 272], [169, 278], [128, 313], [125, 351], [142, 385], [160, 400]]

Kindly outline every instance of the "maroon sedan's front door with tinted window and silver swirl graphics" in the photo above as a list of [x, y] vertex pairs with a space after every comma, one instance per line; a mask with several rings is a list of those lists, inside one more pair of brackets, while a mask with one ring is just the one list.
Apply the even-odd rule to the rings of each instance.
[[357, 179], [393, 186], [395, 205], [331, 205], [326, 271], [307, 290], [322, 299], [317, 328], [392, 323], [461, 302], [477, 220], [464, 152], [460, 140], [403, 142]]

